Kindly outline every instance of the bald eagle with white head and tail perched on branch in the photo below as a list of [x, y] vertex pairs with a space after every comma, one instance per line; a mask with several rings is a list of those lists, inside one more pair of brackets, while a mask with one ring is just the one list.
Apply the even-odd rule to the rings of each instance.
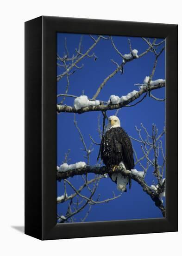
[[[132, 143], [126, 131], [120, 127], [119, 118], [112, 115], [108, 118], [105, 135], [100, 144], [100, 156], [107, 168], [114, 171], [117, 166], [126, 170], [134, 168]], [[120, 173], [109, 174], [117, 189], [126, 192], [128, 182], [131, 180]]]

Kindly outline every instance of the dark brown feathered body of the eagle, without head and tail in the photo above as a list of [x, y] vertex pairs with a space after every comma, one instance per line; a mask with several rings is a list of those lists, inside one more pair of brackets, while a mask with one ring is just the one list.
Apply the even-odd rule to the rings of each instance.
[[100, 156], [106, 167], [119, 165], [121, 161], [127, 170], [134, 168], [132, 143], [121, 127], [110, 128], [102, 138]]

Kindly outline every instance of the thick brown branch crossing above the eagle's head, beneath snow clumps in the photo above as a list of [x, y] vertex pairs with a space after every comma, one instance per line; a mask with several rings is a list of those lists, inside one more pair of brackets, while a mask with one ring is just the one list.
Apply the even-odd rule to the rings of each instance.
[[[160, 82], [157, 85], [153, 85], [150, 87], [150, 91], [152, 90], [156, 90], [159, 88], [163, 88], [165, 87], [165, 81], [164, 82]], [[107, 111], [107, 110], [113, 110], [113, 109], [118, 109], [118, 108], [123, 108], [125, 107], [127, 104], [131, 103], [132, 101], [135, 101], [136, 99], [138, 99], [142, 94], [148, 92], [148, 88], [145, 86], [143, 88], [141, 88], [137, 93], [134, 93], [134, 95], [130, 98], [126, 96], [123, 99], [122, 102], [117, 103], [117, 104], [103, 104], [100, 101], [100, 105], [97, 106], [86, 106], [80, 109], [76, 109], [75, 107], [71, 107], [71, 106], [66, 106], [66, 105], [59, 105], [57, 104], [57, 112], [67, 112], [67, 113], [78, 113], [78, 114], [82, 114], [84, 112], [90, 112], [90, 111]], [[94, 103], [95, 104], [95, 103]]]

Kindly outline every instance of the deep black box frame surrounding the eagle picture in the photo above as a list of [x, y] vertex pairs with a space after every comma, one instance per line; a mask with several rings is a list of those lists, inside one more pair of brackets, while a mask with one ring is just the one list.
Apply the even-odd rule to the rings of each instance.
[[[56, 32], [166, 38], [165, 218], [56, 224]], [[50, 16], [25, 22], [25, 234], [48, 240], [177, 231], [177, 185], [177, 25]]]

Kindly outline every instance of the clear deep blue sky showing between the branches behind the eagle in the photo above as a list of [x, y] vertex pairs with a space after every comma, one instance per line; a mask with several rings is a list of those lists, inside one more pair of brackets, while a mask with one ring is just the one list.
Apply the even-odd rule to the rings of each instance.
[[[57, 33], [57, 53], [63, 56], [64, 38], [67, 38], [67, 47], [70, 56], [75, 54], [75, 48], [78, 48], [80, 34], [62, 34]], [[96, 35], [94, 36], [96, 38]], [[138, 49], [138, 54], [144, 52], [148, 46], [144, 40], [138, 37], [124, 37], [113, 36], [115, 45], [118, 47], [122, 54], [128, 54], [129, 44], [128, 38], [131, 39], [132, 48]], [[157, 39], [157, 42], [162, 39]], [[82, 52], [84, 53], [91, 45], [93, 40], [89, 35], [84, 34], [82, 39]], [[162, 45], [163, 46], [163, 45]], [[159, 49], [161, 49], [159, 47]], [[74, 94], [76, 96], [82, 95], [84, 91], [88, 98], [92, 98], [95, 94], [100, 83], [113, 72], [116, 66], [111, 62], [111, 59], [121, 63], [119, 54], [113, 49], [111, 40], [100, 40], [96, 47], [92, 50], [98, 57], [96, 61], [93, 58], [85, 57], [78, 66], [82, 63], [84, 67], [82, 69], [76, 69], [76, 72], [69, 77], [70, 85], [68, 94]], [[109, 96], [126, 95], [127, 93], [138, 90], [138, 87], [134, 86], [136, 83], [142, 83], [145, 76], [149, 76], [152, 71], [155, 56], [149, 52], [142, 58], [135, 59], [129, 63], [126, 63], [124, 67], [124, 74], [116, 74], [110, 79], [103, 90], [101, 90], [97, 99], [102, 101], [108, 101]], [[57, 67], [57, 74], [63, 73], [63, 68]], [[158, 59], [156, 72], [152, 80], [165, 79], [165, 51]], [[57, 94], [64, 93], [67, 85], [66, 77], [63, 77], [57, 82]], [[153, 94], [158, 98], [165, 97], [165, 88], [161, 88], [153, 91]], [[60, 102], [62, 98], [58, 98], [57, 102]], [[74, 99], [67, 97], [64, 104], [73, 106]], [[135, 103], [135, 102], [134, 102]], [[107, 111], [107, 116], [115, 115], [115, 110]], [[97, 132], [98, 115], [100, 115], [100, 121], [102, 121], [102, 115], [100, 112], [87, 112], [84, 114], [76, 114], [76, 121], [79, 128], [82, 131], [84, 140], [89, 147], [91, 140], [89, 134], [94, 138], [96, 142], [100, 142], [100, 138]], [[165, 101], [155, 101], [149, 97], [144, 101], [131, 108], [122, 108], [119, 110], [118, 115], [121, 126], [126, 130], [128, 135], [138, 138], [135, 126], [140, 127], [140, 123], [148, 129], [151, 134], [152, 124], [155, 123], [159, 133], [162, 132], [165, 125]], [[60, 165], [64, 161], [65, 153], [70, 149], [70, 162], [69, 164], [86, 161], [83, 157], [84, 152], [81, 148], [82, 141], [79, 138], [78, 131], [74, 126], [74, 114], [73, 113], [61, 113], [57, 115], [57, 165]], [[100, 123], [102, 125], [102, 122]], [[144, 133], [143, 133], [144, 135]], [[162, 139], [163, 148], [165, 148], [164, 138]], [[142, 156], [140, 144], [136, 141], [132, 141], [133, 147], [138, 154], [138, 158]], [[99, 152], [99, 146], [93, 145], [94, 150], [90, 155], [90, 165], [96, 163], [96, 158]], [[159, 161], [161, 158], [159, 157]], [[138, 171], [142, 169], [137, 165]], [[151, 185], [152, 181], [156, 181], [152, 175], [152, 168], [149, 168], [146, 175], [146, 182]], [[93, 175], [89, 174], [88, 178], [92, 178]], [[83, 180], [81, 177], [76, 176], [69, 179], [72, 184], [78, 188], [82, 185]], [[100, 200], [104, 200], [115, 195], [119, 195], [119, 191], [116, 189], [116, 184], [109, 178], [100, 180], [99, 188], [95, 195], [100, 194]], [[57, 182], [57, 196], [63, 195], [63, 182]], [[67, 194], [72, 194], [73, 190], [68, 186]], [[88, 195], [88, 192], [84, 190], [84, 195]], [[96, 198], [96, 197], [95, 197]], [[65, 215], [65, 211], [68, 207], [68, 203], [60, 203], [57, 206], [57, 212], [59, 215]], [[86, 210], [75, 216], [75, 221], [80, 222], [81, 218], [85, 216]], [[132, 189], [127, 189], [127, 193], [123, 193], [118, 199], [108, 203], [97, 204], [92, 206], [92, 209], [86, 219], [86, 221], [110, 221], [110, 220], [129, 220], [129, 219], [141, 219], [141, 218], [158, 218], [162, 217], [161, 211], [154, 205], [149, 195], [143, 192], [142, 188], [132, 181]]]

